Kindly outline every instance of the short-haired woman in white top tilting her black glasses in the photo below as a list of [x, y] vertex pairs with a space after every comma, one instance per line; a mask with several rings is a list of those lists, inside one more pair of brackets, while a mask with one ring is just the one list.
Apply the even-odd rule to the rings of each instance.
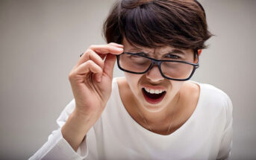
[[[189, 80], [212, 36], [198, 1], [117, 1], [104, 36], [72, 68], [75, 98], [31, 159], [228, 159], [231, 100]], [[125, 77], [113, 79], [116, 59]]]

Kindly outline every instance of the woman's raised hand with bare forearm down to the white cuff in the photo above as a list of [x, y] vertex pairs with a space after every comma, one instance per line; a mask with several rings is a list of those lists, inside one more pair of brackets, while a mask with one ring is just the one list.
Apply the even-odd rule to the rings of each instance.
[[122, 47], [116, 43], [91, 45], [69, 73], [75, 110], [61, 132], [75, 151], [102, 115], [112, 89], [114, 54], [121, 54]]

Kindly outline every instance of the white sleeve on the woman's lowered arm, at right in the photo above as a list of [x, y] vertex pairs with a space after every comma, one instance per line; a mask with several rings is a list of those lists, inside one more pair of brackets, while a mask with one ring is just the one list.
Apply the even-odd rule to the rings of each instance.
[[232, 135], [233, 135], [233, 117], [232, 117], [232, 112], [233, 112], [233, 105], [231, 102], [231, 99], [226, 95], [227, 98], [225, 100], [225, 112], [226, 112], [226, 125], [225, 129], [222, 135], [222, 141], [221, 145], [219, 147], [219, 153], [217, 156], [218, 160], [222, 159], [230, 159], [231, 157], [231, 149], [232, 149]]

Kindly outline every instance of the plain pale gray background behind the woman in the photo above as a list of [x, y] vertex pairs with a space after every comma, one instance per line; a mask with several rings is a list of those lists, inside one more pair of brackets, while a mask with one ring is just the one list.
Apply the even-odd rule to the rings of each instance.
[[[256, 159], [256, 1], [202, 0], [213, 36], [193, 80], [222, 89], [234, 105], [232, 159]], [[102, 44], [113, 0], [0, 1], [0, 158], [28, 159], [72, 100], [68, 74]], [[122, 76], [115, 68], [114, 76]]]

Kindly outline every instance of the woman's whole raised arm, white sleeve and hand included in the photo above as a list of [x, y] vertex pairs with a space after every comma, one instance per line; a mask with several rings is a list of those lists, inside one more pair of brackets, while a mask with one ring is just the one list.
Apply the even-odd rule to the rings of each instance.
[[[88, 136], [84, 137], [93, 129], [110, 97], [114, 54], [122, 51], [122, 45], [112, 42], [91, 45], [84, 52], [69, 73], [75, 100], [57, 119], [60, 128], [49, 135], [49, 140], [31, 159], [84, 159], [87, 156], [87, 143], [83, 141], [87, 141]], [[95, 145], [90, 142], [91, 146]]]

